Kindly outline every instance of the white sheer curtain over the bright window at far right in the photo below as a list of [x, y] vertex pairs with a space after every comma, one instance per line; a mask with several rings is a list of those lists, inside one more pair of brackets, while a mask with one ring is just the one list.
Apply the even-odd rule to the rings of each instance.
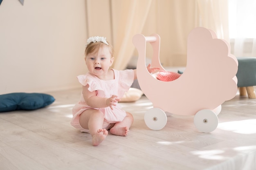
[[256, 57], [255, 17], [255, 0], [229, 0], [231, 53], [236, 57]]

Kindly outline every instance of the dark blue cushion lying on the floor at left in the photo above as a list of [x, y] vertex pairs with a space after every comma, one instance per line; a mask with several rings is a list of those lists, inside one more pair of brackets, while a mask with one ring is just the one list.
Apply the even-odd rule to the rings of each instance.
[[43, 93], [9, 93], [0, 95], [0, 112], [35, 110], [52, 104], [51, 95]]

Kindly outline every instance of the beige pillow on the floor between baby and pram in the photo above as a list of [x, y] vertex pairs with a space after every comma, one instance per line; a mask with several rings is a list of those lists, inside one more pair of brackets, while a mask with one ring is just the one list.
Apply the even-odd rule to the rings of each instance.
[[121, 98], [120, 102], [135, 102], [141, 98], [143, 92], [137, 88], [130, 88], [124, 96]]

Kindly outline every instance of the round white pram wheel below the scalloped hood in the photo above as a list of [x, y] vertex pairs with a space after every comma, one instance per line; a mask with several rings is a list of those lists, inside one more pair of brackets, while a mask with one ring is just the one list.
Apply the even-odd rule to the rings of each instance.
[[199, 132], [209, 133], [217, 128], [218, 116], [212, 110], [203, 109], [195, 114], [194, 124]]

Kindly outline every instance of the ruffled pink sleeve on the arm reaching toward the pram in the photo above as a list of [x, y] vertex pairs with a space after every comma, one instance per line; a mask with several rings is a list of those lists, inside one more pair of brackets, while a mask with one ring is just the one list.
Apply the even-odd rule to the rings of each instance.
[[119, 71], [118, 97], [123, 97], [124, 93], [129, 90], [133, 81], [134, 81], [134, 71], [132, 69]]

